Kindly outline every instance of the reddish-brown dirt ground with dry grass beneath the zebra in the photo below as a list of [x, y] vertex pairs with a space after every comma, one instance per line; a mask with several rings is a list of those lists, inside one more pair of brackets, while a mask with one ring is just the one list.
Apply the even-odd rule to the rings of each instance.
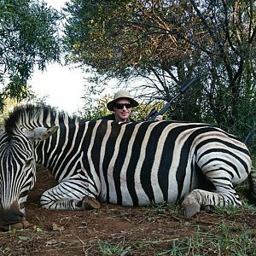
[[[32, 226], [1, 232], [0, 255], [182, 255], [170, 253], [175, 241], [192, 237], [199, 229], [201, 232], [214, 230], [223, 222], [246, 225], [256, 234], [256, 214], [234, 217], [202, 212], [188, 220], [182, 217], [177, 206], [102, 204], [100, 209], [86, 212], [42, 209], [40, 195], [53, 184], [49, 173], [40, 168], [37, 184], [26, 205], [26, 219]], [[209, 253], [209, 248], [206, 252], [206, 255], [219, 255]]]

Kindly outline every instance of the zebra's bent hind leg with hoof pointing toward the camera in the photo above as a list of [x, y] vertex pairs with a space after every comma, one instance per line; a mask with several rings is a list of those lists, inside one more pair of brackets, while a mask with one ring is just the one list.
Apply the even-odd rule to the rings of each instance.
[[200, 212], [201, 207], [241, 206], [239, 196], [236, 194], [231, 177], [227, 175], [227, 172], [208, 172], [206, 176], [216, 190], [210, 192], [194, 189], [189, 195], [186, 195], [182, 204], [186, 218], [191, 218], [196, 212]]

